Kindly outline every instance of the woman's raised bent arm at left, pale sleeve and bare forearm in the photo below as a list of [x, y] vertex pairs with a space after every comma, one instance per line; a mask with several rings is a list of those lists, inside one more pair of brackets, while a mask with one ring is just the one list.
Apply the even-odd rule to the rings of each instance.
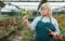
[[28, 30], [36, 30], [36, 25], [37, 25], [37, 23], [38, 23], [39, 17], [36, 17], [36, 18], [31, 22], [31, 24], [29, 24], [27, 16], [24, 16], [23, 19], [24, 19], [25, 25], [26, 25], [26, 27], [28, 28]]

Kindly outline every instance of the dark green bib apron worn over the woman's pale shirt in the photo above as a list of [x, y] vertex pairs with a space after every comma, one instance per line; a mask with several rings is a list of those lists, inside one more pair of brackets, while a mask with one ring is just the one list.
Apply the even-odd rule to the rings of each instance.
[[[53, 41], [53, 37], [50, 33], [50, 31], [47, 29], [51, 29], [52, 31], [55, 31], [55, 26], [51, 23], [43, 23], [41, 19], [38, 22], [36, 26], [36, 35], [35, 35], [35, 41]], [[47, 19], [48, 20], [48, 19]]]

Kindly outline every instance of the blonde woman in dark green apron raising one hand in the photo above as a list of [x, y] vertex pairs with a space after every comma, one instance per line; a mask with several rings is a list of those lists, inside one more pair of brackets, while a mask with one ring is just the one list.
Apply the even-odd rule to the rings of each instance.
[[52, 10], [49, 3], [40, 6], [41, 16], [37, 16], [31, 24], [28, 17], [24, 16], [28, 30], [36, 31], [35, 41], [53, 41], [53, 38], [60, 33], [57, 20], [52, 16]]

